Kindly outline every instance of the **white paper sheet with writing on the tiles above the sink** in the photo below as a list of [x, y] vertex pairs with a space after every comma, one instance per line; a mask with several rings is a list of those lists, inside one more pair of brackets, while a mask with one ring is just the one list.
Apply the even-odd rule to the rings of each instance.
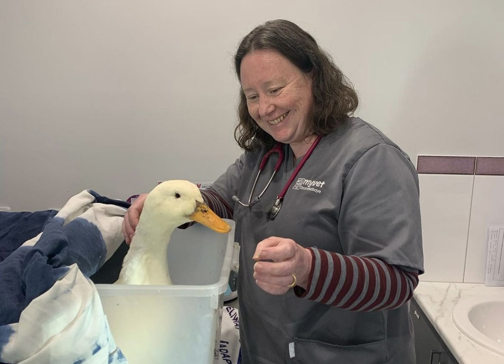
[[504, 286], [504, 227], [488, 229], [485, 285]]

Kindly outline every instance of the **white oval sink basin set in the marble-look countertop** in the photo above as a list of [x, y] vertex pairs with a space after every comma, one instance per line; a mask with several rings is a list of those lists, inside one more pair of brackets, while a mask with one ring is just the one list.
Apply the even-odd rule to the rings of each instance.
[[462, 299], [452, 318], [455, 326], [471, 340], [504, 355], [504, 298]]

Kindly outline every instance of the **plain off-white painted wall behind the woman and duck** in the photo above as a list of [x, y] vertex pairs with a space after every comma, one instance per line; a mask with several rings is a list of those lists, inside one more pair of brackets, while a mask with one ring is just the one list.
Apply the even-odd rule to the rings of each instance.
[[503, 155], [503, 12], [499, 0], [0, 0], [0, 206], [215, 179], [239, 155], [232, 55], [275, 18], [319, 40], [358, 90], [357, 115], [412, 159]]

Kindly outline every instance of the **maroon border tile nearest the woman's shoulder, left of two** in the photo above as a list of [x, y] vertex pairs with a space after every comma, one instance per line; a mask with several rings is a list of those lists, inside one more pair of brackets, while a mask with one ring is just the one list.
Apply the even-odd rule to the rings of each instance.
[[474, 174], [476, 157], [419, 155], [416, 164], [418, 173]]

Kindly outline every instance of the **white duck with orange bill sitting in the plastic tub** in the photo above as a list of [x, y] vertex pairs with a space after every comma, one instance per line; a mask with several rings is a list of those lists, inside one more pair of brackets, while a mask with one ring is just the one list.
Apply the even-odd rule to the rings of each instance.
[[204, 203], [200, 190], [186, 180], [168, 180], [147, 196], [140, 221], [124, 257], [116, 284], [172, 284], [168, 242], [173, 230], [198, 221], [225, 233], [231, 227]]

